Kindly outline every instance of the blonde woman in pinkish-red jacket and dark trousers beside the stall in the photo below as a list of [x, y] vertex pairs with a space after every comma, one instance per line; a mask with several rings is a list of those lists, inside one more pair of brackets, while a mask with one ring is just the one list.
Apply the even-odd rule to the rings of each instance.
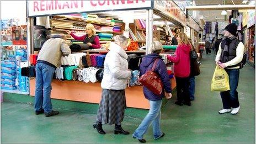
[[189, 74], [190, 74], [190, 44], [188, 36], [185, 33], [179, 33], [177, 36], [178, 47], [175, 56], [168, 56], [168, 60], [174, 62], [174, 76], [177, 87], [177, 102], [175, 104], [182, 106], [183, 104], [190, 106], [189, 97]]

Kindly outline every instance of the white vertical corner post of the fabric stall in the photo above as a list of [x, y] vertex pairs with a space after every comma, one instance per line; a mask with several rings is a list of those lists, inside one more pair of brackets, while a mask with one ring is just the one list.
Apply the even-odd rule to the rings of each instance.
[[146, 28], [146, 55], [150, 54], [150, 45], [153, 41], [153, 9], [147, 10]]

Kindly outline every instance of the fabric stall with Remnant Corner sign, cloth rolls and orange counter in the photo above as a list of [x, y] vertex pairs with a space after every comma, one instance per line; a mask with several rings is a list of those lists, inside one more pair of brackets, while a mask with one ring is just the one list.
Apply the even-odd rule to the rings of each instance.
[[[59, 4], [63, 3], [62, 1], [58, 1]], [[135, 50], [135, 51], [126, 51], [128, 54], [128, 62], [129, 62], [129, 68], [132, 70], [132, 76], [129, 78], [129, 82], [127, 82], [127, 88], [125, 89], [126, 94], [126, 105], [130, 108], [140, 108], [140, 109], [149, 109], [150, 104], [148, 103], [148, 100], [145, 99], [143, 95], [142, 86], [137, 86], [140, 83], [138, 83], [137, 78], [139, 75], [138, 68], [140, 66], [140, 62], [142, 60], [142, 57], [145, 54], [149, 54], [148, 46], [151, 45], [151, 42], [153, 40], [153, 30], [157, 30], [157, 26], [153, 25], [153, 14], [159, 15], [160, 17], [163, 17], [166, 20], [169, 20], [170, 22], [174, 23], [175, 25], [179, 26], [185, 26], [186, 25], [186, 19], [184, 12], [175, 4], [175, 8], [179, 11], [178, 14], [170, 14], [170, 11], [166, 10], [165, 5], [167, 6], [169, 3], [163, 2], [164, 7], [162, 7], [162, 4], [157, 3], [157, 1], [133, 1], [133, 3], [116, 3], [115, 5], [112, 5], [112, 3], [109, 3], [111, 6], [108, 5], [97, 5], [97, 6], [90, 6], [90, 1], [82, 1], [83, 8], [70, 8], [70, 9], [62, 9], [61, 12], [58, 11], [44, 11], [44, 12], [34, 12], [33, 7], [35, 6], [33, 4], [33, 1], [28, 1], [28, 17], [29, 17], [29, 23], [33, 24], [33, 18], [34, 17], [40, 17], [41, 15], [54, 15], [52, 16], [51, 21], [51, 32], [56, 33], [56, 31], [59, 31], [60, 33], [63, 32], [63, 30], [71, 30], [73, 32], [77, 32], [76, 34], [79, 34], [78, 32], [82, 32], [84, 34], [84, 28], [87, 23], [92, 23], [97, 29], [97, 34], [100, 37], [100, 43], [104, 44], [104, 42], [109, 41], [107, 38], [112, 38], [115, 34], [121, 34], [124, 30], [124, 26], [126, 21], [125, 17], [122, 17], [122, 15], [119, 15], [119, 18], [122, 17], [122, 21], [118, 20], [118, 17], [114, 15], [113, 17], [106, 13], [111, 13], [111, 10], [115, 10], [115, 13], [119, 13], [117, 10], [120, 10], [121, 12], [127, 12], [131, 14], [132, 11], [136, 10], [144, 10], [145, 11], [145, 17], [146, 19], [141, 18], [134, 18], [134, 23], [131, 23], [132, 21], [129, 20], [129, 28], [128, 34], [130, 35], [130, 44], [133, 46], [138, 45], [138, 47], [144, 47], [146, 50]], [[39, 3], [38, 3], [39, 4]], [[84, 8], [86, 6], [86, 8]], [[84, 11], [84, 9], [87, 10], [87, 12], [90, 12], [90, 14], [85, 14], [87, 12]], [[94, 10], [97, 9], [97, 12], [94, 12]], [[128, 11], [127, 11], [128, 10]], [[175, 12], [177, 10], [174, 10]], [[94, 12], [94, 13], [93, 13]], [[134, 13], [132, 12], [132, 13]], [[64, 15], [64, 14], [71, 14], [71, 13], [81, 13], [76, 14], [75, 18], [70, 18], [70, 16]], [[101, 15], [100, 13], [104, 13]], [[96, 15], [97, 14], [97, 15]], [[63, 16], [64, 15], [64, 16]], [[107, 15], [107, 16], [106, 16]], [[171, 15], [171, 16], [170, 16]], [[74, 17], [74, 14], [72, 14], [72, 17]], [[102, 18], [100, 18], [102, 17]], [[79, 22], [78, 20], [79, 19]], [[70, 20], [70, 23], [63, 21], [63, 20]], [[56, 23], [57, 22], [57, 23]], [[65, 28], [63, 28], [60, 23], [65, 22]], [[71, 25], [72, 24], [72, 25]], [[67, 28], [68, 27], [68, 28]], [[33, 31], [33, 26], [30, 26], [29, 28], [29, 35], [31, 36], [31, 39], [29, 39], [29, 49], [31, 52], [31, 55], [34, 54], [33, 49], [33, 35], [31, 33]], [[120, 31], [120, 32], [119, 32]], [[105, 34], [103, 34], [105, 33]], [[57, 34], [57, 33], [56, 33]], [[105, 38], [104, 38], [105, 36]], [[163, 40], [162, 35], [162, 40]], [[73, 40], [69, 39], [72, 43]], [[104, 41], [104, 42], [103, 42]], [[70, 42], [70, 44], [71, 44]], [[104, 47], [104, 46], [102, 46]], [[172, 46], [172, 48], [175, 46]], [[70, 81], [59, 81], [57, 79], [54, 79], [52, 82], [52, 91], [51, 91], [51, 98], [54, 99], [62, 99], [62, 100], [72, 100], [76, 102], [86, 102], [86, 103], [95, 103], [99, 104], [102, 88], [100, 87], [100, 78], [102, 77], [102, 71], [103, 71], [103, 63], [104, 63], [104, 56], [108, 50], [105, 49], [93, 49], [93, 50], [83, 50], [83, 53], [81, 55], [77, 52], [74, 52], [74, 54], [71, 54], [71, 57], [63, 57], [62, 58], [62, 67], [58, 68], [56, 71], [56, 75], [58, 79], [65, 79], [68, 78]], [[72, 55], [80, 55], [77, 59], [76, 56]], [[169, 65], [166, 54], [161, 54], [164, 58], [164, 61]], [[92, 58], [96, 57], [95, 59]], [[98, 62], [97, 62], [97, 56], [98, 56]], [[103, 57], [99, 57], [103, 56]], [[100, 59], [99, 59], [100, 58]], [[71, 61], [72, 60], [72, 61]], [[78, 62], [79, 61], [79, 62]], [[96, 61], [96, 62], [95, 62]], [[74, 65], [73, 65], [74, 64]], [[93, 66], [96, 65], [96, 66]], [[68, 73], [65, 72], [64, 67], [69, 67], [67, 69]], [[81, 67], [82, 66], [82, 67]], [[77, 68], [78, 67], [78, 68]], [[63, 70], [62, 70], [63, 69]], [[172, 67], [169, 67], [168, 73], [170, 74], [170, 77], [173, 75], [171, 74], [172, 71], [170, 70]], [[63, 72], [64, 71], [64, 72]], [[71, 73], [72, 71], [72, 73]], [[63, 76], [62, 76], [63, 73]], [[89, 76], [89, 77], [88, 77]], [[90, 77], [93, 76], [93, 77]], [[76, 81], [73, 81], [76, 80]], [[174, 89], [175, 84], [175, 78], [171, 79], [172, 88]], [[60, 94], [61, 93], [61, 94]], [[35, 94], [35, 79], [30, 79], [30, 95]]]

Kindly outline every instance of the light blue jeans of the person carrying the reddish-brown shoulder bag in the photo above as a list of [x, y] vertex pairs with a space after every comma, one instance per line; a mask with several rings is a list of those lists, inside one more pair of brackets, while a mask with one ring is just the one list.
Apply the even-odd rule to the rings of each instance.
[[157, 139], [162, 136], [163, 133], [160, 130], [161, 105], [162, 100], [150, 100], [150, 111], [148, 111], [148, 114], [142, 120], [140, 126], [134, 131], [134, 134], [132, 134], [133, 137], [141, 140], [151, 124], [153, 126], [154, 138]]

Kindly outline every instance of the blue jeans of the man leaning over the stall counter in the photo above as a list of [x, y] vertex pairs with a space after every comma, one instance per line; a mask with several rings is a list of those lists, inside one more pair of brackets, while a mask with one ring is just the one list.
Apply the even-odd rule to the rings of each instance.
[[45, 113], [50, 113], [52, 111], [51, 82], [55, 68], [45, 63], [37, 63], [35, 71], [35, 111], [43, 108]]

